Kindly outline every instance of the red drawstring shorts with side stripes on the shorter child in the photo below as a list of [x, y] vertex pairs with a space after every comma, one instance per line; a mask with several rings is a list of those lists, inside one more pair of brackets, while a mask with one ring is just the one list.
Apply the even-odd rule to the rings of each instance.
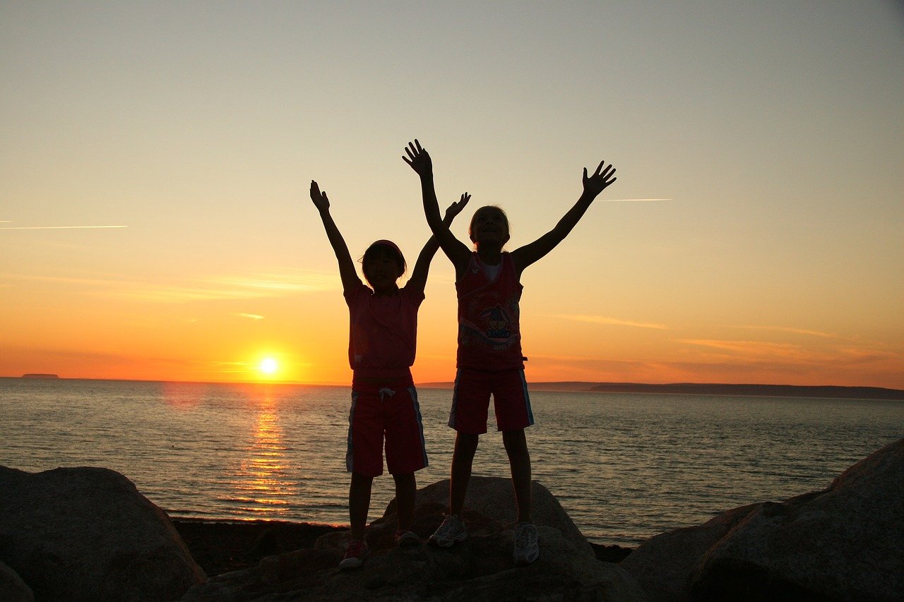
[[383, 474], [383, 436], [386, 467], [391, 475], [407, 475], [427, 466], [424, 426], [414, 383], [352, 383], [348, 415], [345, 467], [364, 476]]

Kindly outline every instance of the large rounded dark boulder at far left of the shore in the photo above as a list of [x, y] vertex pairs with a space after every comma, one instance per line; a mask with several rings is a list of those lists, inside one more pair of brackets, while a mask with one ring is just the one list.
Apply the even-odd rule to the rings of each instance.
[[105, 468], [0, 466], [0, 560], [38, 600], [172, 600], [205, 578], [166, 514]]

